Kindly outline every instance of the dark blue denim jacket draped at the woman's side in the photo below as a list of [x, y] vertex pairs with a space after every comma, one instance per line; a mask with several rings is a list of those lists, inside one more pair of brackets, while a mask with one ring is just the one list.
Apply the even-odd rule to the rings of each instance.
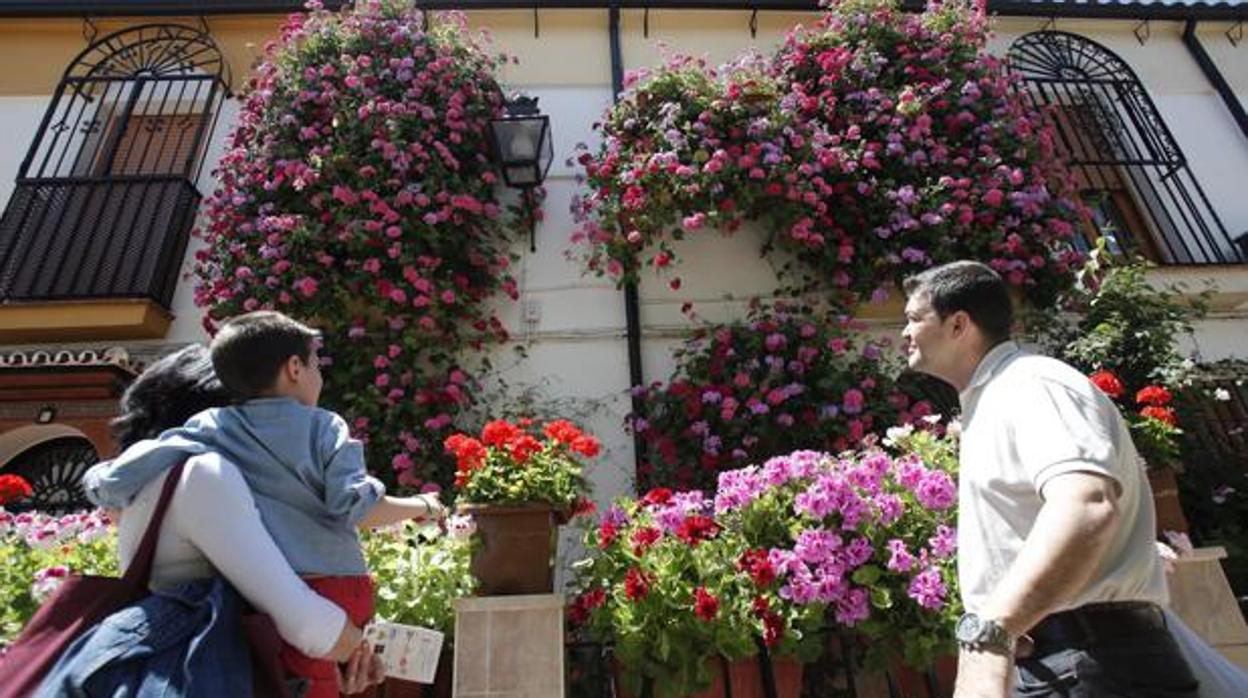
[[156, 592], [74, 641], [34, 698], [247, 698], [242, 608], [220, 577]]

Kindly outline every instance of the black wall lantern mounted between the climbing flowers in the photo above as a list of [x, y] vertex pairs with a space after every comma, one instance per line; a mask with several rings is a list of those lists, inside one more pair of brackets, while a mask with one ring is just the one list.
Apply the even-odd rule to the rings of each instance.
[[538, 110], [538, 99], [515, 95], [507, 101], [503, 116], [490, 121], [490, 147], [503, 182], [519, 189], [529, 214], [529, 245], [537, 251], [533, 216], [533, 190], [545, 181], [554, 144], [550, 142], [550, 117]]

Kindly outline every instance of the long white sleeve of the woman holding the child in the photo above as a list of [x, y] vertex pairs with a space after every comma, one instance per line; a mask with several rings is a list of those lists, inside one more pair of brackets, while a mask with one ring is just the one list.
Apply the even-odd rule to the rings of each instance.
[[165, 523], [195, 544], [243, 598], [272, 616], [282, 639], [310, 657], [333, 649], [346, 612], [295, 574], [233, 463], [215, 453], [191, 458]]

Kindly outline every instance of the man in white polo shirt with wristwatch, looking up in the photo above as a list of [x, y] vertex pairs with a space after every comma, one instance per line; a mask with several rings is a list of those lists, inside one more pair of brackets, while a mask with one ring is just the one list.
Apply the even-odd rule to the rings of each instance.
[[1010, 341], [990, 267], [953, 262], [905, 291], [910, 367], [962, 403], [956, 697], [1194, 697], [1158, 608], [1152, 493], [1114, 405]]

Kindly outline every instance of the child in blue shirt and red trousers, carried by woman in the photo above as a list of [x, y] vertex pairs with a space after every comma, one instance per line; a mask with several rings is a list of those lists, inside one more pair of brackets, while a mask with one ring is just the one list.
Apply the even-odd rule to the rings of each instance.
[[[373, 612], [372, 581], [357, 529], [408, 518], [441, 518], [436, 494], [387, 497], [368, 474], [363, 446], [346, 421], [317, 407], [322, 377], [318, 333], [272, 311], [226, 322], [210, 346], [220, 381], [241, 402], [206, 410], [185, 426], [140, 441], [87, 471], [87, 498], [122, 508], [182, 460], [216, 452], [251, 487], [261, 519], [308, 586], [363, 626]], [[230, 512], [221, 512], [230, 516]], [[312, 698], [336, 697], [331, 662], [283, 651], [291, 673], [310, 678]]]

